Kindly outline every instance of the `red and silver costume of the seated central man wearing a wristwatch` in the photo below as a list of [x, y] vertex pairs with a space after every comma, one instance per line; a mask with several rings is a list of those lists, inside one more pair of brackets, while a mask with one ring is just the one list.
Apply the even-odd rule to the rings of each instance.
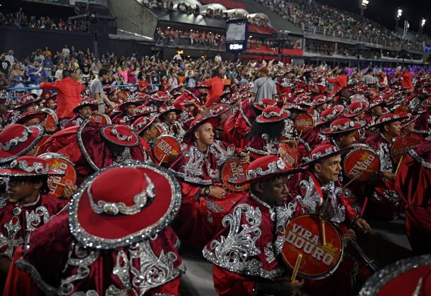
[[224, 187], [220, 179], [221, 166], [239, 152], [224, 142], [214, 141], [204, 154], [193, 143], [187, 145], [171, 164], [170, 169], [178, 177], [183, 193], [181, 222], [173, 227], [180, 239], [188, 244], [206, 244], [225, 214], [241, 198], [241, 193], [229, 191], [223, 199], [200, 194], [204, 187]]

